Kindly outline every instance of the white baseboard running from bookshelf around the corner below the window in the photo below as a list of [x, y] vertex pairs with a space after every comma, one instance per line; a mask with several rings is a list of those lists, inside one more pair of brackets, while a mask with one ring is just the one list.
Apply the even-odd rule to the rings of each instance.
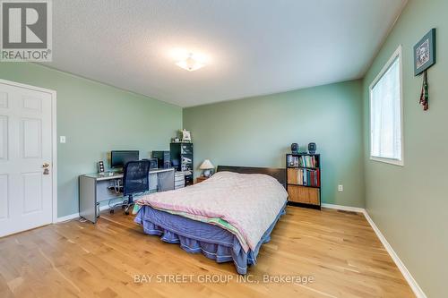
[[399, 256], [395, 251], [393, 251], [391, 244], [389, 244], [384, 237], [383, 233], [381, 233], [380, 229], [375, 225], [375, 222], [372, 220], [372, 218], [368, 215], [366, 209], [364, 208], [358, 208], [358, 207], [349, 207], [349, 206], [341, 206], [341, 205], [333, 205], [333, 204], [322, 204], [323, 208], [328, 209], [339, 209], [344, 211], [352, 211], [352, 212], [358, 212], [364, 214], [364, 217], [366, 217], [367, 222], [370, 226], [372, 226], [372, 229], [374, 229], [376, 236], [380, 239], [381, 243], [383, 243], [384, 248], [391, 256], [392, 260], [395, 262], [395, 265], [400, 269], [401, 274], [408, 282], [410, 288], [414, 292], [414, 294], [417, 296], [417, 298], [427, 298], [426, 294], [423, 292], [421, 287], [418, 285], [417, 281], [412, 277], [410, 274], [408, 268], [404, 265], [404, 263], [400, 260]]

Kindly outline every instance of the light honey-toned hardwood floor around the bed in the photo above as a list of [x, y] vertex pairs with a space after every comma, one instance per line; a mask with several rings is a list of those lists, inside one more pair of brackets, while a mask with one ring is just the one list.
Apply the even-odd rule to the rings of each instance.
[[[246, 283], [232, 263], [163, 243], [133, 219], [103, 212], [97, 225], [72, 220], [1, 238], [0, 297], [414, 297], [360, 214], [289, 207]], [[134, 283], [141, 275], [151, 282]]]

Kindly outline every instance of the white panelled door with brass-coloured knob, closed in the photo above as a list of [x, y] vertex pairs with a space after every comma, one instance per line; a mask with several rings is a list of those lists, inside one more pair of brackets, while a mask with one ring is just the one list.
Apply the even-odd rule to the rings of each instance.
[[0, 81], [0, 237], [52, 222], [52, 94]]

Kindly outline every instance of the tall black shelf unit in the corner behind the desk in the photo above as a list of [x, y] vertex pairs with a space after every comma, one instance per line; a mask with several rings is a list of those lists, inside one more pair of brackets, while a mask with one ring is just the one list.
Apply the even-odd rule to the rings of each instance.
[[171, 165], [177, 171], [185, 173], [185, 186], [193, 185], [194, 163], [193, 163], [193, 143], [172, 142], [169, 144]]

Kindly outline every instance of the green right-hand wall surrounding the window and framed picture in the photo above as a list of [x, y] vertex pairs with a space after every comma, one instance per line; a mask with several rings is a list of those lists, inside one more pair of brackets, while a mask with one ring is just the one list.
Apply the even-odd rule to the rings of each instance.
[[[364, 80], [366, 209], [428, 297], [446, 297], [448, 277], [448, 1], [410, 0]], [[412, 47], [436, 28], [437, 63], [428, 71], [429, 110], [418, 105]], [[404, 166], [369, 160], [368, 87], [402, 45]]]

